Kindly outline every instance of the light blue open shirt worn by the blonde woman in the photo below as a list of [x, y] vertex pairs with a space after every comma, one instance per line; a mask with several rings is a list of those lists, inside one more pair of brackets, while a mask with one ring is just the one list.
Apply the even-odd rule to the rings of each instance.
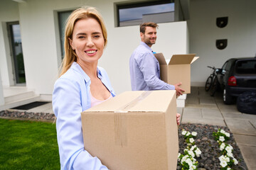
[[[115, 96], [105, 69], [97, 67], [97, 76], [112, 96]], [[55, 82], [53, 111], [57, 118], [56, 128], [61, 170], [107, 169], [102, 165], [100, 159], [92, 157], [84, 149], [81, 112], [91, 107], [90, 83], [90, 77], [76, 62], [73, 62], [70, 69]]]

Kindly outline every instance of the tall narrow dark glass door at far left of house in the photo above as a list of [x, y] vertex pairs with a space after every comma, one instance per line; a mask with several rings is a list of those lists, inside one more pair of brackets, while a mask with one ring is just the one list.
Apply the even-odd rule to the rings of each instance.
[[13, 63], [14, 84], [26, 85], [26, 76], [23, 62], [21, 30], [18, 21], [7, 23], [11, 58]]

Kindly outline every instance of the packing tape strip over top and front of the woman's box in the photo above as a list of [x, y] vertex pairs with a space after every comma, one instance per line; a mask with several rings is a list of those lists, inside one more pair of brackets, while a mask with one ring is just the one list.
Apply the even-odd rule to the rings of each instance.
[[140, 96], [135, 98], [130, 103], [122, 106], [121, 108], [114, 111], [114, 141], [115, 145], [127, 146], [127, 119], [126, 114], [130, 108], [134, 107], [140, 101], [144, 100], [146, 96], [149, 96], [151, 91], [144, 91]]

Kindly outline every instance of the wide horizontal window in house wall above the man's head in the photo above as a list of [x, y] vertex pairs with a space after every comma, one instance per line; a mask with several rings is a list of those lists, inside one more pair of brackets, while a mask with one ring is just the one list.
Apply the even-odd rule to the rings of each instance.
[[116, 4], [117, 26], [137, 26], [144, 22], [174, 22], [174, 0]]

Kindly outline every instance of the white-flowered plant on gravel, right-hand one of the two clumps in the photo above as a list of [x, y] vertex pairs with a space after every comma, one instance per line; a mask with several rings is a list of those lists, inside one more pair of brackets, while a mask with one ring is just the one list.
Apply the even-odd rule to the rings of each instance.
[[238, 164], [238, 160], [233, 157], [233, 147], [225, 143], [225, 141], [230, 139], [230, 133], [218, 129], [218, 132], [213, 132], [213, 136], [218, 142], [220, 153], [222, 154], [218, 158], [220, 160], [221, 170], [231, 170], [234, 164]]

